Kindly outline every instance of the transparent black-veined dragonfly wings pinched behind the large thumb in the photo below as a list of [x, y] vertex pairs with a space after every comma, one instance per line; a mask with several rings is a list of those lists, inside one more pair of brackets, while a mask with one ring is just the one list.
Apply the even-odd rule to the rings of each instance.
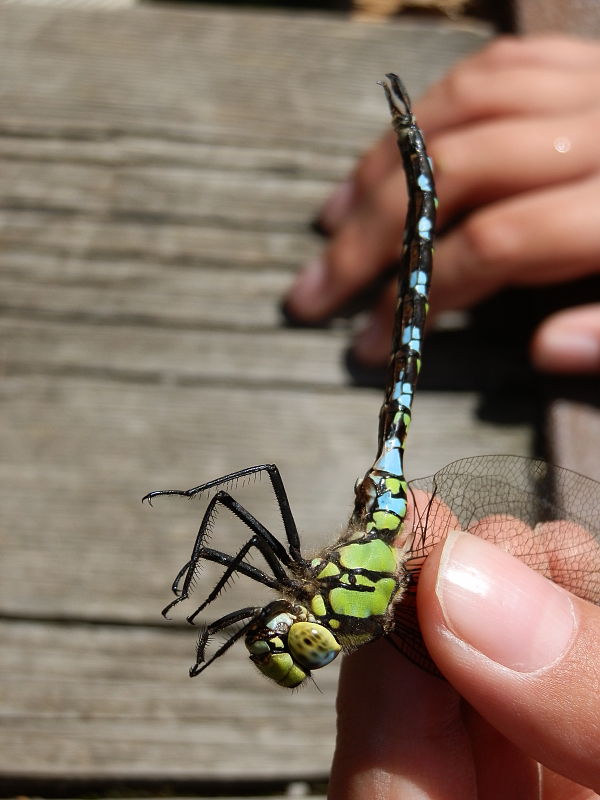
[[418, 628], [416, 586], [424, 559], [451, 530], [494, 542], [600, 605], [600, 484], [591, 478], [520, 456], [476, 456], [411, 481], [410, 492], [410, 581], [393, 644], [424, 669], [437, 673]]

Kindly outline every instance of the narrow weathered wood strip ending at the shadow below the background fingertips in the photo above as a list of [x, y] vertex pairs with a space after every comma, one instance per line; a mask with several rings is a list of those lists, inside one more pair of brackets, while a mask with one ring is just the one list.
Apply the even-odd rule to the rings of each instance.
[[94, 324], [94, 317], [70, 323], [0, 321], [0, 337], [10, 342], [6, 369], [63, 375], [105, 373], [129, 380], [182, 384], [215, 380], [257, 386], [312, 384], [315, 389], [342, 386], [348, 380], [341, 363], [347, 345], [342, 335], [275, 333], [272, 328], [162, 329], [148, 324], [119, 325], [114, 319], [107, 325], [101, 317], [96, 320], [100, 324]]

